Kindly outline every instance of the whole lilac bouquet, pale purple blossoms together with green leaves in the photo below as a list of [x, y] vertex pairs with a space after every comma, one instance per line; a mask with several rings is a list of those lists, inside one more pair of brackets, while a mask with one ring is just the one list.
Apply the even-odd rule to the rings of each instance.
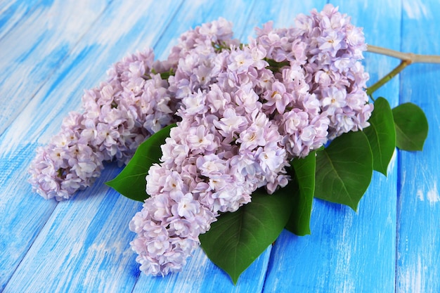
[[201, 243], [236, 282], [283, 228], [309, 233], [313, 197], [356, 209], [396, 146], [422, 148], [420, 108], [366, 90], [366, 49], [330, 4], [295, 27], [268, 22], [249, 44], [224, 19], [205, 23], [167, 60], [148, 49], [113, 65], [37, 150], [30, 183], [65, 200], [103, 162], [127, 164], [108, 185], [144, 201], [129, 223], [141, 271], [181, 271]]

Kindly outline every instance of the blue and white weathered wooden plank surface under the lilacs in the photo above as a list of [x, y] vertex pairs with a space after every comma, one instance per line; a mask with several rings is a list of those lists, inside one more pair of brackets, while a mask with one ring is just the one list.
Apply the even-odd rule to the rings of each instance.
[[[64, 202], [44, 200], [27, 183], [35, 148], [123, 56], [153, 47], [164, 59], [182, 32], [221, 16], [245, 42], [268, 20], [287, 27], [325, 3], [0, 1], [0, 292], [440, 292], [440, 65], [410, 65], [377, 93], [425, 111], [423, 152], [396, 151], [357, 213], [315, 200], [312, 234], [284, 231], [236, 286], [201, 249], [181, 273], [138, 271], [128, 223], [141, 203], [104, 185], [116, 165]], [[368, 44], [440, 55], [438, 0], [333, 4], [364, 27]], [[399, 64], [373, 53], [364, 61], [370, 84]]]

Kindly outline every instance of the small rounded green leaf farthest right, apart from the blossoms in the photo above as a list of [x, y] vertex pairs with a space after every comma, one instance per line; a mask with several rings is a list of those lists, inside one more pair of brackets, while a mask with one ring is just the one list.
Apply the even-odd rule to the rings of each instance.
[[422, 150], [428, 136], [425, 113], [413, 103], [404, 103], [393, 109], [396, 126], [396, 145], [401, 150]]

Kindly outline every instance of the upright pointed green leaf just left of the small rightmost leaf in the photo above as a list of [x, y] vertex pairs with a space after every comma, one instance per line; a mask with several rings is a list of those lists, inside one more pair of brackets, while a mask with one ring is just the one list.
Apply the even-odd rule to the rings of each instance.
[[396, 148], [396, 130], [393, 112], [386, 99], [377, 98], [375, 110], [368, 122], [370, 126], [363, 132], [373, 152], [373, 169], [387, 176], [388, 164]]

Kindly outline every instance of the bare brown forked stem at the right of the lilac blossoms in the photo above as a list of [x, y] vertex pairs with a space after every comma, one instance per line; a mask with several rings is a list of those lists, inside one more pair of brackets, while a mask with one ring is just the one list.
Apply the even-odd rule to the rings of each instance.
[[[403, 70], [406, 66], [412, 64], [412, 63], [440, 63], [440, 56], [435, 55], [420, 55], [415, 53], [403, 53], [399, 51], [394, 51], [389, 48], [382, 48], [377, 46], [371, 46], [368, 45], [367, 51], [371, 53], [378, 53], [386, 56], [391, 56], [394, 58], [399, 58], [402, 60], [402, 62], [394, 68], [389, 74], [385, 75], [380, 79], [378, 82], [373, 84], [373, 86], [369, 86], [367, 89], [367, 94], [370, 96], [370, 98], [373, 99], [373, 96], [371, 96], [377, 89], [379, 89], [381, 86], [389, 82], [393, 77], [395, 77], [399, 72]], [[373, 99], [374, 100], [374, 99]]]

